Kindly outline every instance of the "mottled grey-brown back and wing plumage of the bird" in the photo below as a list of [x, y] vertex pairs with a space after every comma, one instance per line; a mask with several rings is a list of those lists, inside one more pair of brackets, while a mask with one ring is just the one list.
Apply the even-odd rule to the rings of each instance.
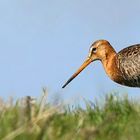
[[117, 54], [118, 67], [125, 85], [140, 87], [140, 44], [129, 46]]

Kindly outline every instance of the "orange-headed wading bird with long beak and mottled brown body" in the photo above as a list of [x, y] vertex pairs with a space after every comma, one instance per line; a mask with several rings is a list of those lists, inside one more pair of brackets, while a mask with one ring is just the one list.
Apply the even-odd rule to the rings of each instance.
[[109, 41], [101, 39], [91, 45], [84, 63], [62, 88], [96, 60], [102, 63], [106, 74], [114, 82], [128, 87], [140, 87], [140, 44], [131, 45], [117, 53]]

